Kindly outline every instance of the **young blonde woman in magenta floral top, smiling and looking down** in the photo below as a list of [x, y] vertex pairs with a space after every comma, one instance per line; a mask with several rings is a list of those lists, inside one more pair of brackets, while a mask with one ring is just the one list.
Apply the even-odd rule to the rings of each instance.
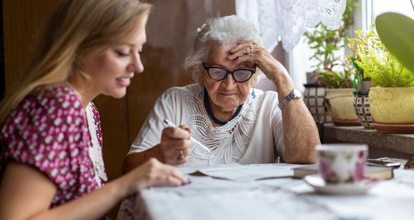
[[[121, 198], [157, 184], [180, 186], [174, 167], [149, 159], [103, 186], [99, 94], [121, 98], [144, 71], [150, 5], [138, 0], [63, 0], [37, 54], [0, 107], [0, 219], [97, 219]], [[190, 144], [186, 129], [165, 145]]]

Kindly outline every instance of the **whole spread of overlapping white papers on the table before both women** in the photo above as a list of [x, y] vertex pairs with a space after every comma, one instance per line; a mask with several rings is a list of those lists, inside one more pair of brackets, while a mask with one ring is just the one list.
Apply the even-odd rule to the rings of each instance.
[[[299, 164], [221, 164], [202, 168], [180, 167], [188, 174], [191, 184], [181, 187], [159, 186], [157, 192], [175, 192], [178, 195], [199, 196], [215, 193], [253, 190], [260, 187], [283, 188], [297, 184], [297, 179], [282, 178], [293, 175], [292, 168]], [[191, 175], [196, 171], [205, 176]]]

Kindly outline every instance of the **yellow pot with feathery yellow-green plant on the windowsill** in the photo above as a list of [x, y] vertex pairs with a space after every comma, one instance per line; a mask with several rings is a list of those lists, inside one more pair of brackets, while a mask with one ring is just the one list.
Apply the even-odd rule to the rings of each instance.
[[375, 86], [368, 94], [373, 125], [392, 131], [395, 124], [414, 124], [414, 74], [388, 52], [375, 32], [369, 33], [378, 41], [359, 44], [354, 53], [359, 57], [355, 63]]

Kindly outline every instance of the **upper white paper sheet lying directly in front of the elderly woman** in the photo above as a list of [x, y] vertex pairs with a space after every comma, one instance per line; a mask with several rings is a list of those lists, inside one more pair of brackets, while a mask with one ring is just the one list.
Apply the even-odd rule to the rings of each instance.
[[292, 168], [299, 164], [228, 164], [199, 168], [199, 172], [210, 177], [232, 181], [254, 181], [258, 179], [291, 177]]

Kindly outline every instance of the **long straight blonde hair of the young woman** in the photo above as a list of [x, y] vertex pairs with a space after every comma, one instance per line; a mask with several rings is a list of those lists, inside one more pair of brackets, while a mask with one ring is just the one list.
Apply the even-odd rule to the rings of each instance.
[[19, 87], [0, 105], [0, 124], [36, 87], [70, 82], [81, 74], [80, 59], [127, 42], [146, 25], [151, 5], [139, 0], [64, 0], [46, 25], [37, 53]]

